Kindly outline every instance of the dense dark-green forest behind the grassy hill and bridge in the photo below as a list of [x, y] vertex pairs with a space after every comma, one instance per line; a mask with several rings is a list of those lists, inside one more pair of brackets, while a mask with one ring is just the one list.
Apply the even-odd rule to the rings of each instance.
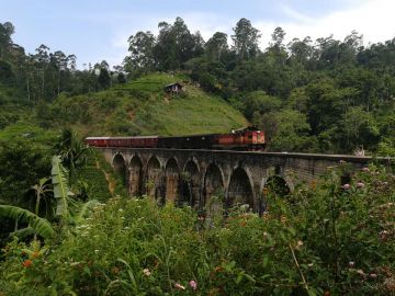
[[[95, 92], [150, 72], [182, 72], [262, 128], [270, 150], [393, 152], [394, 39], [363, 46], [362, 34], [351, 32], [343, 41], [306, 36], [284, 44], [286, 33], [276, 27], [262, 49], [260, 32], [246, 19], [235, 24], [234, 35], [216, 32], [207, 41], [181, 18], [158, 29], [157, 36], [131, 35], [121, 66], [111, 70], [103, 60], [79, 70], [75, 55], [45, 45], [26, 55], [12, 43], [14, 26], [3, 23], [1, 84], [43, 117], [60, 93]], [[2, 92], [0, 99], [4, 104], [10, 98]], [[1, 112], [1, 127], [15, 121], [18, 115]]]

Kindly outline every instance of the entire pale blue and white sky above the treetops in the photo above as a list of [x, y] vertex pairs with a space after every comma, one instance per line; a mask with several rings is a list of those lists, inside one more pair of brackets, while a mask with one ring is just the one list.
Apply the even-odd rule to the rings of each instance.
[[365, 46], [385, 42], [395, 37], [394, 11], [395, 0], [0, 0], [0, 22], [13, 23], [14, 43], [31, 54], [41, 44], [75, 54], [80, 69], [101, 60], [121, 65], [131, 35], [157, 34], [159, 22], [177, 16], [205, 41], [218, 31], [230, 36], [246, 18], [260, 30], [264, 49], [276, 26], [285, 31], [285, 43], [330, 34], [342, 41], [353, 30]]

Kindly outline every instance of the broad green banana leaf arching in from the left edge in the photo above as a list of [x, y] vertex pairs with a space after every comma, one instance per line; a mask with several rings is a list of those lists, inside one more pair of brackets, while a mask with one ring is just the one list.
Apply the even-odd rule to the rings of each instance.
[[50, 223], [27, 209], [10, 205], [0, 205], [0, 217], [27, 223], [30, 227], [43, 238], [50, 238], [54, 236], [54, 229], [52, 228]]

